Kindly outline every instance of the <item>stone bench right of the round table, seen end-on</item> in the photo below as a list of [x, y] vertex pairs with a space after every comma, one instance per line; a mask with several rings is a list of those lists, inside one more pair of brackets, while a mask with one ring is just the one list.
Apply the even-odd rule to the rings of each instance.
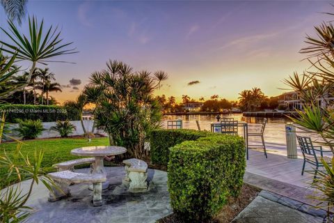
[[124, 180], [129, 181], [129, 191], [143, 192], [148, 190], [148, 164], [143, 160], [123, 160], [127, 176]]

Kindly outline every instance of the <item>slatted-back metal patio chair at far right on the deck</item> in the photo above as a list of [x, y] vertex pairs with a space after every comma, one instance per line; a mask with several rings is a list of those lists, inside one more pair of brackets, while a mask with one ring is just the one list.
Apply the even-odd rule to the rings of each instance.
[[[317, 173], [319, 171], [319, 167], [324, 167], [324, 164], [321, 162], [321, 157], [324, 159], [328, 165], [331, 166], [332, 157], [324, 156], [324, 153], [332, 153], [332, 151], [323, 151], [322, 146], [313, 146], [312, 140], [310, 137], [301, 137], [296, 136], [299, 146], [301, 147], [301, 153], [303, 153], [303, 168], [301, 169], [301, 175], [304, 175], [305, 164], [308, 162], [315, 166], [315, 176], [317, 178]], [[317, 153], [318, 152], [318, 153]], [[319, 154], [320, 153], [320, 154]], [[320, 155], [320, 157], [319, 157]]]

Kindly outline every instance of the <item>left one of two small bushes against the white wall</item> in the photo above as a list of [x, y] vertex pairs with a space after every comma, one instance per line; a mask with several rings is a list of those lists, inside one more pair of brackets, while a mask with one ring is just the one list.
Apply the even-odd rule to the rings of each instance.
[[19, 123], [19, 127], [15, 128], [15, 131], [19, 132], [19, 136], [22, 137], [22, 139], [35, 139], [43, 130], [45, 130], [39, 119], [22, 120], [17, 118], [17, 123]]

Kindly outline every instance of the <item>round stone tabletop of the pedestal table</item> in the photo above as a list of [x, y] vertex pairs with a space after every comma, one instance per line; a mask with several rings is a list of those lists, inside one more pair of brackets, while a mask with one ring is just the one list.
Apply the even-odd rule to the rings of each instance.
[[127, 149], [120, 146], [87, 146], [81, 148], [74, 148], [71, 151], [72, 155], [79, 156], [105, 156], [105, 155], [119, 155], [126, 153]]

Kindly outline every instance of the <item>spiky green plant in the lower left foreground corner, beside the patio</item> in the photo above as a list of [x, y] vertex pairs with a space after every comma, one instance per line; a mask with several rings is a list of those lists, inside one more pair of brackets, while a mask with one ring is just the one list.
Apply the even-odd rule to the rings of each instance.
[[[49, 178], [46, 172], [42, 169], [43, 160], [42, 151], [35, 151], [33, 159], [24, 156], [21, 153], [22, 143], [17, 144], [17, 149], [14, 155], [7, 155], [6, 151], [0, 155], [0, 168], [7, 169], [7, 174], [1, 175], [0, 187], [5, 188], [0, 190], [0, 222], [23, 222], [31, 215], [31, 209], [26, 206], [33, 186], [40, 182], [49, 190], [53, 181]], [[10, 186], [13, 181], [29, 180], [28, 192], [23, 192], [18, 185]]]

